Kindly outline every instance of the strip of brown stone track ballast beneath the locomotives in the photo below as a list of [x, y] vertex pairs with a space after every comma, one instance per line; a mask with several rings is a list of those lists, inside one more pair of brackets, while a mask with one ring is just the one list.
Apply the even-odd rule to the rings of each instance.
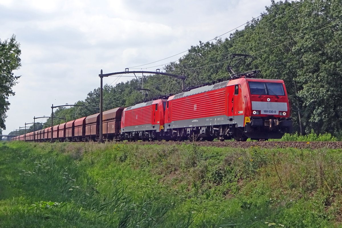
[[[127, 142], [127, 144], [139, 145], [182, 145], [193, 144], [193, 142]], [[234, 147], [234, 148], [250, 148], [254, 146], [262, 148], [297, 148], [297, 149], [342, 149], [342, 142], [196, 142], [198, 146], [213, 147]]]

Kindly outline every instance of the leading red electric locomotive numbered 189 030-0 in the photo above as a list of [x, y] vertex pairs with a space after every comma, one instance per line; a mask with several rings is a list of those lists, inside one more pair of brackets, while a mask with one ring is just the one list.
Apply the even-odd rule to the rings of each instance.
[[291, 127], [282, 80], [241, 77], [170, 96], [166, 105], [165, 134], [173, 140], [281, 138]]

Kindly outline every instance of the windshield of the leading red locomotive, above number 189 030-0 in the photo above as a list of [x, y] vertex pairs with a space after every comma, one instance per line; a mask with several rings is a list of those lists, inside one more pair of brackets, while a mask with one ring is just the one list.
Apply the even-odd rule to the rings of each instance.
[[248, 82], [251, 94], [258, 95], [279, 95], [284, 96], [282, 83], [275, 82]]

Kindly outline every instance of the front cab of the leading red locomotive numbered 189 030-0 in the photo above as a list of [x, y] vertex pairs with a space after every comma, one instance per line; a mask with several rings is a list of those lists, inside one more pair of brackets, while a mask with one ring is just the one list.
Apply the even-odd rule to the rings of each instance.
[[268, 139], [291, 133], [292, 118], [284, 81], [248, 78], [246, 84], [250, 109], [246, 110], [244, 135]]

